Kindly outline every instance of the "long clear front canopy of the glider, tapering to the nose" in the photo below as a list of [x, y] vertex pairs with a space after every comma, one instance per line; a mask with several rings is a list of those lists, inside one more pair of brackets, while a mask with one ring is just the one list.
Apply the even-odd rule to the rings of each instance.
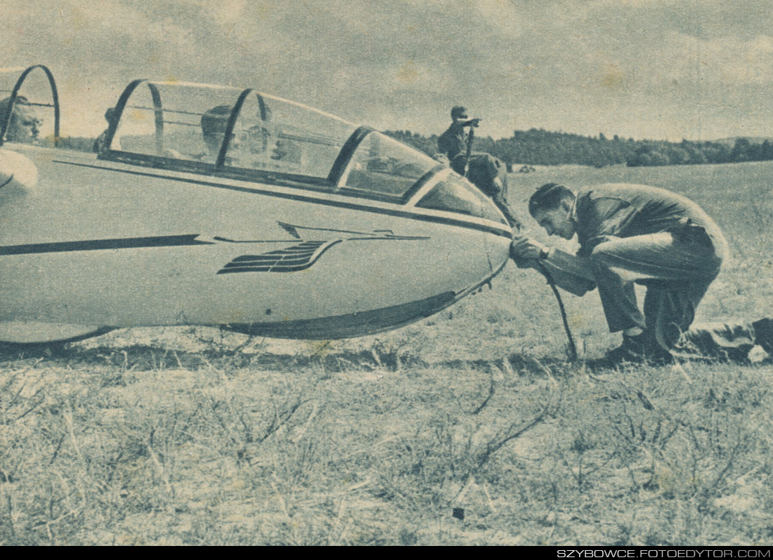
[[252, 89], [135, 80], [121, 94], [100, 159], [406, 203], [503, 222], [438, 161], [369, 127]]

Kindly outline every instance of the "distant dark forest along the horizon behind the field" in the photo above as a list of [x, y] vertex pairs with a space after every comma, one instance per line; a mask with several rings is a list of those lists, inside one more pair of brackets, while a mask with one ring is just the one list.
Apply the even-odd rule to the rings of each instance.
[[[426, 154], [438, 153], [438, 136], [435, 134], [430, 137], [410, 131], [386, 131], [385, 134]], [[608, 138], [604, 134], [581, 136], [536, 128], [514, 131], [512, 137], [501, 140], [476, 136], [472, 150], [489, 152], [508, 165], [604, 167], [625, 164], [636, 167], [773, 160], [773, 144], [768, 140], [752, 142], [739, 137], [710, 142], [666, 142], [626, 139], [617, 135]]]

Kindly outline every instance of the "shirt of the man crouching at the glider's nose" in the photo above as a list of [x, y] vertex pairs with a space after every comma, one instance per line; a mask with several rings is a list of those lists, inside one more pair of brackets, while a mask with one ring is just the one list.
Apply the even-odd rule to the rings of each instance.
[[589, 255], [609, 237], [673, 232], [709, 236], [718, 255], [727, 252], [719, 226], [690, 199], [662, 188], [608, 183], [580, 188], [571, 218], [581, 249]]

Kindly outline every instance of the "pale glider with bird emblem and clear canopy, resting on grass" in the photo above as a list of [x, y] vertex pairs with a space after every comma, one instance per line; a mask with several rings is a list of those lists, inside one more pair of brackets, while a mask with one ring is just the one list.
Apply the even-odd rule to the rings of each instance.
[[[15, 75], [0, 341], [162, 325], [361, 336], [448, 307], [507, 262], [512, 229], [490, 199], [372, 128], [250, 88], [135, 80], [95, 151], [75, 150], [50, 71]], [[32, 131], [30, 110], [53, 118]]]

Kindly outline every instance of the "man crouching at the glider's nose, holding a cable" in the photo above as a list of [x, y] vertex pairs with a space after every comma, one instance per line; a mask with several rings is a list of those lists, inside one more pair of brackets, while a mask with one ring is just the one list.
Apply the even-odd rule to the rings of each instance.
[[[727, 242], [713, 219], [689, 199], [645, 185], [595, 185], [574, 192], [549, 183], [531, 196], [529, 213], [550, 236], [577, 234], [580, 250], [573, 257], [516, 237], [511, 255], [519, 266], [536, 267], [541, 261], [557, 266], [557, 272], [574, 269], [577, 280], [565, 285], [575, 294], [595, 283], [609, 330], [623, 335], [604, 364], [665, 363], [675, 347], [688, 346], [730, 358], [754, 344], [773, 353], [769, 319], [690, 329], [727, 256]], [[636, 283], [646, 287], [642, 310]]]

